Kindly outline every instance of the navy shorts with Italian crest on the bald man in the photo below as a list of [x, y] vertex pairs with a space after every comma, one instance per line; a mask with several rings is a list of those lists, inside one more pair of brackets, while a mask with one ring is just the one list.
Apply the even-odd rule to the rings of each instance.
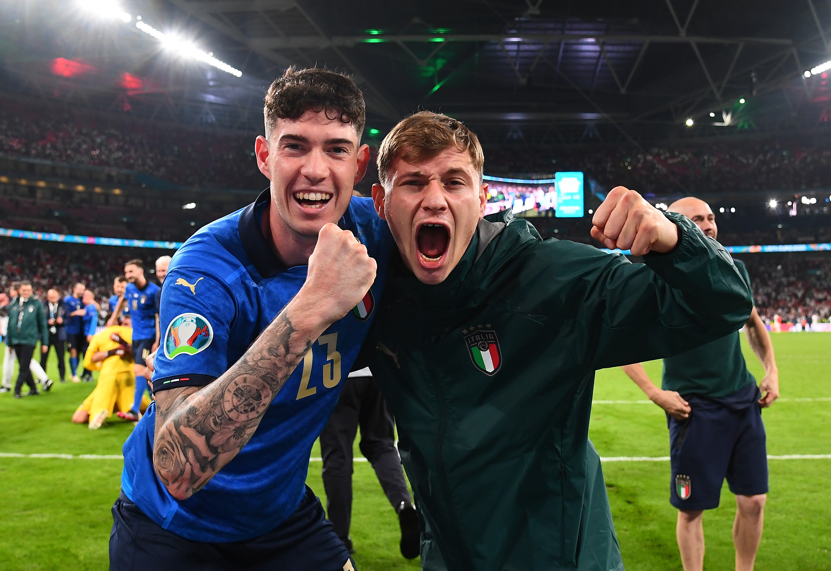
[[717, 508], [725, 478], [736, 495], [768, 492], [765, 424], [755, 402], [759, 389], [753, 384], [740, 389], [743, 392], [747, 393], [743, 403], [685, 397], [692, 409], [690, 417], [679, 421], [667, 415], [670, 503], [679, 510]]

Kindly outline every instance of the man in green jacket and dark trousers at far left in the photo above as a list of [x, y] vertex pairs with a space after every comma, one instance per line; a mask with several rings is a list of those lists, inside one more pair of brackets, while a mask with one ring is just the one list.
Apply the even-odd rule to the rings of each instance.
[[22, 281], [17, 290], [17, 300], [8, 310], [8, 346], [14, 349], [17, 362], [21, 364], [14, 385], [14, 398], [20, 398], [23, 383], [29, 385], [29, 394], [40, 394], [32, 379], [32, 371], [26, 366], [32, 361], [38, 341], [41, 342], [41, 351], [46, 353], [49, 350], [47, 315], [43, 304], [32, 297], [32, 282]]

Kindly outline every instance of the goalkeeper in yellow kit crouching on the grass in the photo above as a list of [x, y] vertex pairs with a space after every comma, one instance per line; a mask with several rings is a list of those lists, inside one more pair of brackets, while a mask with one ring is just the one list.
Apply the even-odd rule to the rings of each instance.
[[[130, 351], [133, 340], [130, 325], [130, 316], [127, 315], [120, 320], [120, 325], [111, 325], [92, 336], [86, 349], [84, 367], [100, 371], [98, 384], [72, 415], [72, 422], [89, 422], [90, 430], [97, 430], [113, 412], [125, 412], [132, 408], [135, 373]], [[150, 398], [145, 396], [141, 403], [142, 412], [148, 405]]]

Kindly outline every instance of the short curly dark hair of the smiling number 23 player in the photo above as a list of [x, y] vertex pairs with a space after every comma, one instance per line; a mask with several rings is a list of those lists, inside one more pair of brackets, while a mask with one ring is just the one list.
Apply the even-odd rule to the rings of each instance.
[[278, 119], [297, 119], [307, 110], [326, 111], [326, 116], [350, 123], [361, 139], [366, 123], [366, 105], [361, 90], [352, 78], [317, 67], [295, 70], [289, 67], [265, 94], [265, 135], [271, 135]]

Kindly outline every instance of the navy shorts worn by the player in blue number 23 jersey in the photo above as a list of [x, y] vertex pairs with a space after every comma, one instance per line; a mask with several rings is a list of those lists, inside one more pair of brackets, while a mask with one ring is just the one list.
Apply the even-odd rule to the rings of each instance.
[[111, 571], [351, 571], [347, 548], [314, 492], [274, 530], [246, 541], [201, 543], [163, 529], [121, 494], [112, 506]]

